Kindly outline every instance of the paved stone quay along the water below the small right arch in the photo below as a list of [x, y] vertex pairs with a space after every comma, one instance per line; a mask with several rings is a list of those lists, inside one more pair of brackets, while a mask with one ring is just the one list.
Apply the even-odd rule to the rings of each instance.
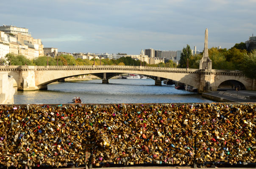
[[208, 93], [202, 93], [202, 97], [217, 102], [256, 102], [256, 91], [212, 91]]

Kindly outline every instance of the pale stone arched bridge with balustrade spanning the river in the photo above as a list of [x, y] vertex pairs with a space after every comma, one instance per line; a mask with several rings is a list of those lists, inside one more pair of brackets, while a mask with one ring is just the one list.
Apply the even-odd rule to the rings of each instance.
[[118, 74], [143, 74], [156, 80], [161, 85], [163, 79], [198, 88], [199, 92], [216, 91], [227, 80], [241, 82], [246, 90], [256, 90], [256, 82], [246, 78], [241, 71], [207, 70], [189, 68], [159, 68], [144, 66], [91, 65], [91, 66], [0, 66], [0, 71], [7, 71], [17, 82], [18, 90], [47, 89], [47, 85], [72, 76], [94, 74], [103, 83]]

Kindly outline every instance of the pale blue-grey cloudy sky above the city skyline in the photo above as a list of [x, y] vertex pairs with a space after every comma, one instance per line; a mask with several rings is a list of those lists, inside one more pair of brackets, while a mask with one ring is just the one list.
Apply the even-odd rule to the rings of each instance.
[[28, 28], [58, 52], [231, 48], [256, 35], [256, 0], [1, 0], [0, 25]]

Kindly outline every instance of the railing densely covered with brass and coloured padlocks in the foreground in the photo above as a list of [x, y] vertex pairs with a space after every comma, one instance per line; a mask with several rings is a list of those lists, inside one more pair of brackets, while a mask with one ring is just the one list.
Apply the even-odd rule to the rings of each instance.
[[255, 103], [0, 105], [0, 164], [249, 164], [255, 133]]

